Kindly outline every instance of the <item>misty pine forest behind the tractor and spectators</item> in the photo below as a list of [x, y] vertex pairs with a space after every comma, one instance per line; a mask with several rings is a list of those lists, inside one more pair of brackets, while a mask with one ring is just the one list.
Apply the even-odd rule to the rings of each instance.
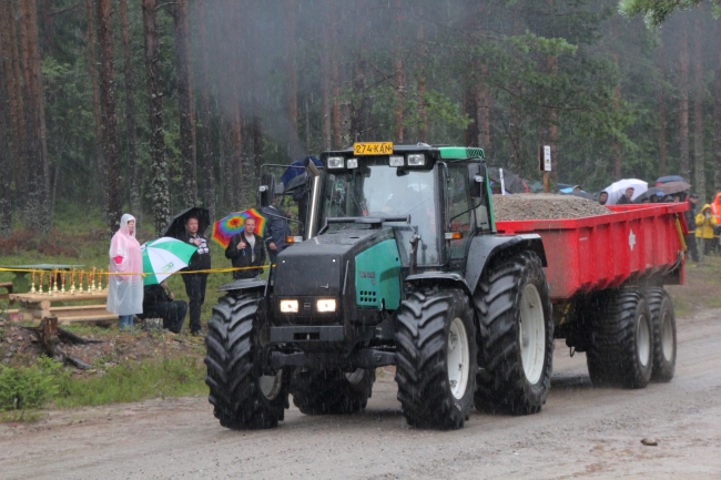
[[253, 206], [261, 163], [374, 140], [481, 146], [530, 181], [550, 144], [558, 182], [681, 174], [708, 201], [721, 28], [711, 2], [658, 3], [686, 9], [0, 0], [0, 236], [129, 211], [150, 238], [186, 206]]

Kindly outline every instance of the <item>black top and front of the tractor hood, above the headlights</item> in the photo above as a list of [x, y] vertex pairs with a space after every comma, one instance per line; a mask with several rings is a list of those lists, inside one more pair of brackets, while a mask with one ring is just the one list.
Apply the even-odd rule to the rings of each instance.
[[390, 227], [339, 229], [286, 248], [276, 259], [274, 295], [339, 296], [353, 286], [355, 256], [394, 238]]

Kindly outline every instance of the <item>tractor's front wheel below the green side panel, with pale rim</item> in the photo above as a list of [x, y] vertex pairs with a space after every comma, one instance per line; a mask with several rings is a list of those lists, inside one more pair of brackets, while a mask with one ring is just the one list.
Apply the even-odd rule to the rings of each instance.
[[464, 426], [476, 386], [476, 326], [458, 289], [414, 292], [398, 309], [396, 382], [409, 425]]

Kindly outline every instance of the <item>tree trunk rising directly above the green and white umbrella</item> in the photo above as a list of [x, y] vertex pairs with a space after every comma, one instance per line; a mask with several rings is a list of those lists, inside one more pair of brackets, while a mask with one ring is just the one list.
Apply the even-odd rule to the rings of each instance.
[[145, 69], [148, 103], [150, 105], [150, 156], [152, 163], [152, 198], [155, 235], [161, 236], [170, 221], [170, 191], [163, 125], [163, 91], [160, 82], [160, 51], [155, 0], [143, 0], [143, 32], [145, 37]]

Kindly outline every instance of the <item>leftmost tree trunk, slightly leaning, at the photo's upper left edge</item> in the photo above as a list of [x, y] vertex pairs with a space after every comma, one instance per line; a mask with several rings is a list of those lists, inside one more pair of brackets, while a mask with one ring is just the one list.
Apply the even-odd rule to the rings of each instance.
[[[0, 35], [4, 44], [3, 64], [10, 103], [10, 130], [12, 131], [12, 157], [16, 192], [28, 190], [28, 151], [26, 143], [26, 120], [23, 109], [22, 76], [18, 52], [18, 29], [11, 1], [0, 1]], [[16, 195], [16, 205], [24, 207], [24, 195]]]

